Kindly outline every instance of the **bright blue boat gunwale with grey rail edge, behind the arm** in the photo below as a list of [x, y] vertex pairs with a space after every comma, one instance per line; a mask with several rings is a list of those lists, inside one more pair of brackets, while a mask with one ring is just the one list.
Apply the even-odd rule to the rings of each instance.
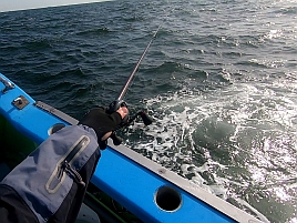
[[[0, 74], [0, 114], [37, 144], [57, 129], [78, 123], [59, 110], [34, 101], [4, 75]], [[6, 88], [9, 82], [14, 88]], [[123, 145], [113, 145], [111, 141], [102, 151], [91, 182], [144, 222], [259, 222], [186, 179]]]

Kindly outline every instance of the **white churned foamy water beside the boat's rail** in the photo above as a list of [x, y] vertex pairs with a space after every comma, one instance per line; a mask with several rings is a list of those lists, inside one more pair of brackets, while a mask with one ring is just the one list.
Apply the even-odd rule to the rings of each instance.
[[[256, 210], [258, 203], [272, 196], [285, 205], [296, 202], [296, 83], [242, 82], [147, 99], [155, 123], [145, 130], [141, 123], [131, 126], [127, 144], [268, 221]], [[284, 84], [287, 91], [280, 92]], [[141, 132], [135, 141], [133, 132]]]

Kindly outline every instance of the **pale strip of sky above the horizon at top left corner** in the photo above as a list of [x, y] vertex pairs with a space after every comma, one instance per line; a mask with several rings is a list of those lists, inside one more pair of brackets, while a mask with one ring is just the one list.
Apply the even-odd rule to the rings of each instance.
[[0, 12], [44, 7], [58, 7], [78, 3], [100, 2], [106, 0], [1, 0]]

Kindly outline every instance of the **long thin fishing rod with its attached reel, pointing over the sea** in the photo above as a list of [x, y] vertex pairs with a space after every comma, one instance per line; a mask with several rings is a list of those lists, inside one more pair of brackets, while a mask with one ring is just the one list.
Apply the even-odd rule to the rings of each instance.
[[[126, 102], [124, 101], [124, 97], [125, 97], [125, 94], [126, 94], [126, 92], [127, 92], [129, 87], [131, 85], [131, 82], [132, 82], [132, 80], [133, 80], [135, 73], [137, 72], [137, 69], [139, 69], [141, 62], [143, 61], [145, 54], [147, 53], [147, 51], [148, 51], [151, 44], [152, 44], [153, 41], [156, 39], [156, 34], [157, 34], [160, 28], [161, 28], [161, 26], [157, 28], [157, 30], [156, 30], [155, 33], [153, 34], [151, 41], [148, 42], [148, 44], [146, 45], [145, 50], [143, 51], [141, 58], [139, 59], [139, 61], [137, 61], [135, 68], [133, 69], [132, 73], [130, 74], [130, 77], [127, 78], [125, 84], [123, 85], [121, 92], [120, 92], [119, 95], [115, 98], [115, 100], [109, 105], [109, 108], [107, 108], [107, 113], [116, 112], [116, 111], [117, 111], [120, 108], [122, 108], [122, 107], [127, 108], [127, 104], [126, 104]], [[119, 129], [122, 129], [122, 128], [124, 128], [124, 126], [130, 125], [130, 124], [131, 124], [137, 116], [141, 116], [141, 118], [142, 118], [143, 123], [144, 123], [145, 125], [150, 125], [150, 124], [153, 122], [153, 119], [152, 119], [151, 116], [148, 116], [144, 111], [140, 111], [140, 112], [137, 112], [133, 118], [130, 118], [130, 115], [127, 114], [127, 115], [123, 119], [123, 121], [121, 122], [121, 124], [117, 126], [117, 130], [119, 130]], [[115, 132], [112, 133], [111, 139], [113, 140], [113, 143], [114, 143], [115, 145], [119, 145], [119, 144], [122, 143], [122, 139], [119, 138], [119, 136], [115, 134]]]

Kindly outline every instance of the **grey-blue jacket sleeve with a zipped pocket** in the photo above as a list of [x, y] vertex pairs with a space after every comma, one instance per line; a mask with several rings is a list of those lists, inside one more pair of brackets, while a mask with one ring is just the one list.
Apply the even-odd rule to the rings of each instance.
[[[39, 222], [74, 222], [99, 158], [93, 129], [65, 126], [3, 179], [0, 201], [6, 194], [17, 193]], [[18, 210], [14, 212], [18, 214]]]

